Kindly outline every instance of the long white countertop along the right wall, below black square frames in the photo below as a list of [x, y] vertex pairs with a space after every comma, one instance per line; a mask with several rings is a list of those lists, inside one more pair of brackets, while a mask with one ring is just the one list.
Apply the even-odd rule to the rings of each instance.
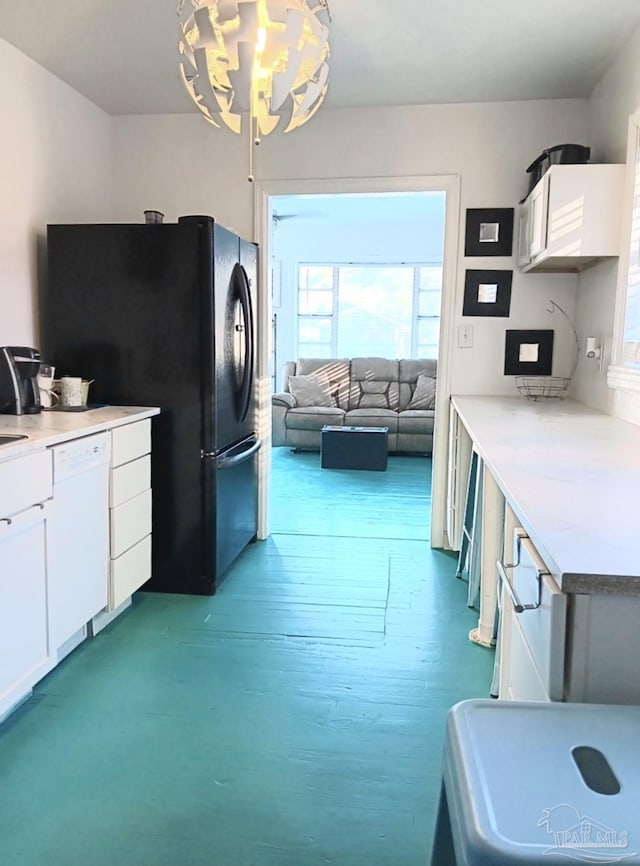
[[640, 594], [640, 427], [571, 400], [452, 402], [559, 586]]

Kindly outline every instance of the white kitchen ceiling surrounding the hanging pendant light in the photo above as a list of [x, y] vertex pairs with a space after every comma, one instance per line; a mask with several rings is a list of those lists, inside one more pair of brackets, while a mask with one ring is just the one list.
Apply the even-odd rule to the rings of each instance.
[[[640, 24], [639, 0], [329, 3], [327, 107], [585, 97]], [[0, 0], [0, 37], [110, 114], [197, 113], [176, 8]]]

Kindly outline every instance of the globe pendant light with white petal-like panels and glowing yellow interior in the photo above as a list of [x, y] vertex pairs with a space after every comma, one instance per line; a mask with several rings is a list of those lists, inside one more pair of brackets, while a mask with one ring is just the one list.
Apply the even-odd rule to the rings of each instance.
[[[302, 126], [327, 92], [327, 0], [179, 0], [180, 71], [205, 119], [253, 145]], [[250, 175], [250, 180], [252, 176]]]

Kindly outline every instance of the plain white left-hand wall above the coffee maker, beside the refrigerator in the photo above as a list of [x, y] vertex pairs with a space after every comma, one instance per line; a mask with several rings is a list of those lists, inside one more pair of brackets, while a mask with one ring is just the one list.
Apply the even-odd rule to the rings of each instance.
[[47, 223], [111, 210], [111, 119], [0, 40], [0, 345], [38, 345]]

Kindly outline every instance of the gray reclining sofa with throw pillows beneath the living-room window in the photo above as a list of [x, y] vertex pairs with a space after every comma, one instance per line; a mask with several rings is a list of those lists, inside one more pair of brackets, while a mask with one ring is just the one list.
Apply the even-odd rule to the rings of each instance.
[[435, 360], [301, 358], [273, 394], [272, 444], [319, 451], [325, 424], [388, 427], [389, 451], [431, 453]]

